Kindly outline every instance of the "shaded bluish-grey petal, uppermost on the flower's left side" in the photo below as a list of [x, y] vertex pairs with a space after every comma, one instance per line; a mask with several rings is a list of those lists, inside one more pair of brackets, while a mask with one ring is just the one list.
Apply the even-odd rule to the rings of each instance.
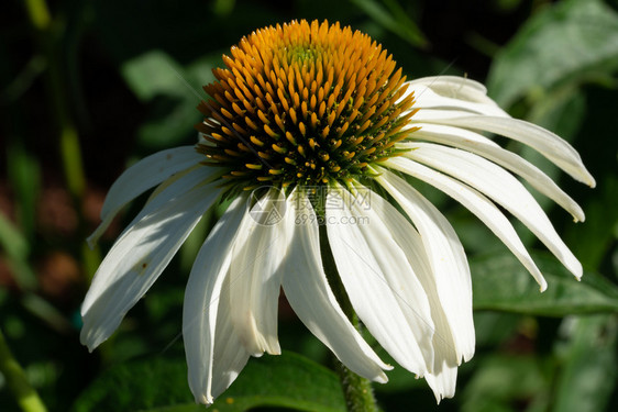
[[97, 242], [113, 216], [126, 203], [174, 174], [199, 164], [202, 159], [203, 155], [197, 153], [195, 146], [181, 146], [155, 153], [131, 166], [111, 186], [101, 208], [102, 222], [88, 243], [92, 245]]

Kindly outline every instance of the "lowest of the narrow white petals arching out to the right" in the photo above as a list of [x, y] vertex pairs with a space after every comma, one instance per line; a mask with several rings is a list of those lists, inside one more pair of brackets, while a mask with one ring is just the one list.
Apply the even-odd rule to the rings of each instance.
[[534, 261], [526, 250], [521, 240], [508, 219], [487, 198], [468, 186], [430, 169], [407, 158], [391, 158], [384, 163], [385, 166], [404, 171], [417, 179], [442, 190], [456, 201], [461, 202], [472, 213], [483, 221], [504, 242], [521, 264], [530, 271], [539, 283], [541, 291], [548, 283]]

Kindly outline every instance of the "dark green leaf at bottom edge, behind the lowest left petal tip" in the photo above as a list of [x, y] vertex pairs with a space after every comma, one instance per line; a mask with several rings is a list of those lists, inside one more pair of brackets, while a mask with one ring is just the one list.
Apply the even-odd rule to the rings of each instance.
[[[343, 412], [336, 375], [293, 353], [250, 359], [236, 381], [209, 409], [241, 412], [256, 407]], [[203, 411], [194, 402], [185, 359], [162, 357], [119, 365], [103, 372], [74, 404], [74, 412]]]

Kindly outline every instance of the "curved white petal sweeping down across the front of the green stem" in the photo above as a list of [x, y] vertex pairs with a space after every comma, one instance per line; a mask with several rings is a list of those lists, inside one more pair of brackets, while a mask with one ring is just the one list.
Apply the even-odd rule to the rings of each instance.
[[316, 213], [309, 198], [296, 189], [288, 202], [286, 220], [294, 231], [289, 253], [282, 265], [289, 304], [350, 370], [385, 383], [388, 378], [382, 369], [391, 367], [373, 352], [336, 302], [322, 268]]

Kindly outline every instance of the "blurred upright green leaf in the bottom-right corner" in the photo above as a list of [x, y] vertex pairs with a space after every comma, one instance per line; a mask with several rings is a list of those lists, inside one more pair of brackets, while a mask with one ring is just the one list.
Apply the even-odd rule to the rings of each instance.
[[563, 325], [563, 364], [558, 374], [553, 411], [605, 411], [618, 378], [615, 315], [576, 318]]

